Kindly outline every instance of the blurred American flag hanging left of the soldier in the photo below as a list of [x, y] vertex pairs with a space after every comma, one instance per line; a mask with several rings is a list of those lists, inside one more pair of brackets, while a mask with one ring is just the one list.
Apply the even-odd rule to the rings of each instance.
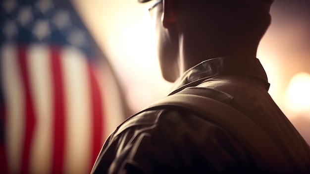
[[0, 4], [0, 173], [89, 173], [124, 119], [110, 66], [69, 0]]

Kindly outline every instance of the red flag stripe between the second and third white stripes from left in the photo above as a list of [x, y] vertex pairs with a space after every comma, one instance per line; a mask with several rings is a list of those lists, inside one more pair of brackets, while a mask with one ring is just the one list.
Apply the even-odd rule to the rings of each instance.
[[65, 100], [59, 53], [59, 48], [53, 47], [51, 49], [52, 84], [54, 96], [52, 174], [63, 173], [65, 148]]

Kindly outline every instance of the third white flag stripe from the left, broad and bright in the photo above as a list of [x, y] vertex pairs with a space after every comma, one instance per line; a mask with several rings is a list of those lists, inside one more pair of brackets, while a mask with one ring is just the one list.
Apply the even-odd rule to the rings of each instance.
[[91, 165], [91, 110], [87, 60], [78, 50], [61, 54], [66, 99], [66, 174], [86, 174]]

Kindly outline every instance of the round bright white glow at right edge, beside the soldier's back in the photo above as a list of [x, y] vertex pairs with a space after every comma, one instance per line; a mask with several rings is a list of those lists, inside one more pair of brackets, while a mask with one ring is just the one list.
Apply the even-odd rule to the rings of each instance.
[[286, 105], [295, 112], [310, 109], [310, 74], [298, 73], [290, 81], [286, 90]]

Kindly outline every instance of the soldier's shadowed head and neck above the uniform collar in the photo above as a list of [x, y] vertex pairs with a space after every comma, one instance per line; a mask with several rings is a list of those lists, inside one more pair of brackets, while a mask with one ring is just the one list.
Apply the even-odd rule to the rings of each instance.
[[[149, 0], [139, 0], [145, 2]], [[163, 77], [209, 58], [256, 56], [272, 0], [163, 0], [151, 9]]]

